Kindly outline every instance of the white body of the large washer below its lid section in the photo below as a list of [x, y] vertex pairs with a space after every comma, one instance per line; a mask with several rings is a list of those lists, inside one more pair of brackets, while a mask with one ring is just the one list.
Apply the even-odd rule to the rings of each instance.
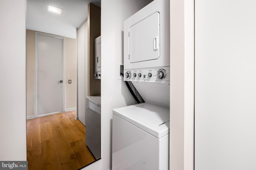
[[113, 115], [112, 170], [168, 170], [169, 134], [156, 138]]

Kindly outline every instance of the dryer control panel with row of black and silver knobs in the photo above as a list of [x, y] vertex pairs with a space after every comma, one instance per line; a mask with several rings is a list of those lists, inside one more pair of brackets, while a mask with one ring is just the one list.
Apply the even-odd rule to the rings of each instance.
[[170, 83], [170, 67], [124, 70], [124, 81]]

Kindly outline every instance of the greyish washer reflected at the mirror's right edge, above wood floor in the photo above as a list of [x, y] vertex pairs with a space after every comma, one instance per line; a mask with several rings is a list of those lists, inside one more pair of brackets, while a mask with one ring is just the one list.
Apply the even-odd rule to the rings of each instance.
[[86, 97], [85, 142], [96, 160], [100, 159], [100, 96]]

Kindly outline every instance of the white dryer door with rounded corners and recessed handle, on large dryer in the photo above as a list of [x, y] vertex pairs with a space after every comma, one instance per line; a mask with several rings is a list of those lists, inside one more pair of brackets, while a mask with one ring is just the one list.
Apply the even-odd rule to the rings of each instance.
[[129, 29], [129, 61], [136, 63], [160, 57], [160, 14], [158, 12]]

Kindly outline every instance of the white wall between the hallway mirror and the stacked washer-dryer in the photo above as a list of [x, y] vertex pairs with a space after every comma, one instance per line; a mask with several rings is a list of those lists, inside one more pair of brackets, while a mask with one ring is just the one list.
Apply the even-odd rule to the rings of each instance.
[[146, 6], [149, 0], [102, 0], [101, 3], [101, 160], [86, 170], [108, 170], [112, 166], [112, 109], [135, 104], [125, 83], [118, 80], [123, 61], [123, 22]]

